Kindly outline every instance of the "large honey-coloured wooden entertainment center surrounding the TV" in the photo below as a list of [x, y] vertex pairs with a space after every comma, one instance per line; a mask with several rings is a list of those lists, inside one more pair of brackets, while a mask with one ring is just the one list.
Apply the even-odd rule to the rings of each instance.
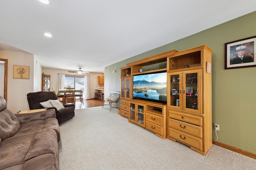
[[[171, 50], [121, 70], [121, 116], [205, 155], [212, 146], [212, 49]], [[167, 72], [167, 104], [133, 99], [133, 76]]]

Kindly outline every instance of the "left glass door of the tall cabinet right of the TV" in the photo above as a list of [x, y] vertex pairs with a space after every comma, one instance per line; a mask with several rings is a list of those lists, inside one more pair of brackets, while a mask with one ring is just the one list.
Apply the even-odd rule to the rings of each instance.
[[168, 79], [170, 86], [168, 105], [182, 109], [182, 72], [168, 73]]

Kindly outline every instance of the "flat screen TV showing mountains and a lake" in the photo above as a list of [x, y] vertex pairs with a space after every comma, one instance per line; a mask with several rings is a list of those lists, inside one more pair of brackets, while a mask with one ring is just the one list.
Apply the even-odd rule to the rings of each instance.
[[133, 76], [132, 97], [166, 103], [167, 73], [146, 73]]

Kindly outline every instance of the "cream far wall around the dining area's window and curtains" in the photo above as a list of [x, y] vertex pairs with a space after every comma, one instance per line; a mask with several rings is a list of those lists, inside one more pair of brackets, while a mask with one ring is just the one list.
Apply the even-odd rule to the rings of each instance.
[[[69, 74], [69, 75], [78, 75], [77, 73], [69, 73], [68, 70], [62, 69], [50, 69], [43, 68], [42, 72], [46, 75], [51, 75], [50, 77], [50, 91], [52, 91], [52, 87], [54, 87], [57, 92], [57, 82], [58, 82], [58, 73]], [[94, 98], [95, 89], [104, 88], [104, 85], [98, 84], [98, 76], [104, 76], [104, 73], [86, 73], [83, 75], [90, 75], [90, 98]]]

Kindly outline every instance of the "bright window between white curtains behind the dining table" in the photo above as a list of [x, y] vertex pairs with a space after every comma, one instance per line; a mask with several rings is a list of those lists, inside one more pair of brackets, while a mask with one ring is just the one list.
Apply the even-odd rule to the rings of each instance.
[[64, 87], [71, 87], [80, 90], [84, 87], [84, 76], [65, 75]]

